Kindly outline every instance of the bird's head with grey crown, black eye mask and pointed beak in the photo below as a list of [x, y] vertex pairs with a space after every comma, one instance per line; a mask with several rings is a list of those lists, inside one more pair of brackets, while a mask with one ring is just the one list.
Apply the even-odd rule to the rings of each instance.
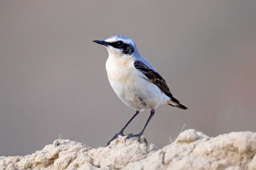
[[121, 35], [115, 35], [103, 41], [94, 40], [93, 42], [104, 45], [110, 55], [123, 56], [139, 54], [134, 40]]

